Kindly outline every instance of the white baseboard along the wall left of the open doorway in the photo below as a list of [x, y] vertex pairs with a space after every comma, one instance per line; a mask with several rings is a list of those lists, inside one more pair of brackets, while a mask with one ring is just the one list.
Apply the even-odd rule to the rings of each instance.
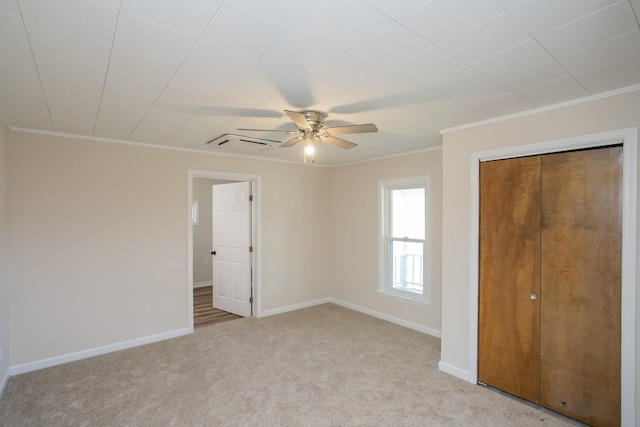
[[91, 348], [88, 350], [77, 351], [74, 353], [63, 354], [48, 359], [36, 360], [34, 362], [23, 363], [9, 368], [9, 375], [24, 374], [26, 372], [37, 371], [38, 369], [49, 368], [51, 366], [62, 365], [63, 363], [74, 362], [76, 360], [87, 359], [93, 356], [99, 356], [106, 353], [112, 353], [118, 350], [124, 350], [140, 345], [151, 344], [157, 341], [164, 341], [170, 338], [176, 338], [182, 335], [193, 333], [193, 329], [184, 328], [175, 331], [162, 332], [160, 334], [149, 335], [142, 338], [136, 338], [129, 341], [122, 341], [115, 344], [109, 344], [102, 347]]

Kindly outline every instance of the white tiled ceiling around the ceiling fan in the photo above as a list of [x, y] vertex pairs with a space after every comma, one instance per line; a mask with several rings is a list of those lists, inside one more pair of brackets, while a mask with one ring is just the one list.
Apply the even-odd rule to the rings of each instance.
[[[284, 109], [375, 123], [317, 164], [640, 84], [640, 0], [0, 0], [11, 128], [213, 150]], [[300, 144], [252, 155], [299, 161]]]

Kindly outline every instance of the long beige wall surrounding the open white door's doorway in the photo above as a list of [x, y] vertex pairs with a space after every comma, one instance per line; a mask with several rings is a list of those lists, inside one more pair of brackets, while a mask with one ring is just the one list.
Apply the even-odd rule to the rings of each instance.
[[18, 132], [9, 152], [12, 366], [188, 327], [188, 169], [262, 177], [263, 310], [329, 296], [326, 168]]

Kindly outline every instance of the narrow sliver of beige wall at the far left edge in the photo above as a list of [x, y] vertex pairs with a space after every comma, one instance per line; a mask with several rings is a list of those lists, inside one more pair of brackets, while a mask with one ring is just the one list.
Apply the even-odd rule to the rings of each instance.
[[0, 120], [0, 392], [9, 370], [9, 130]]

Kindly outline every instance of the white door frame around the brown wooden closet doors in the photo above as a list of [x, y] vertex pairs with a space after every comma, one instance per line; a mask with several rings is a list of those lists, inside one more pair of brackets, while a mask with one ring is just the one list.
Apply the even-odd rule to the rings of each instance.
[[471, 153], [471, 245], [469, 278], [469, 382], [478, 382], [478, 292], [480, 238], [480, 163], [530, 155], [556, 153], [621, 143], [622, 176], [622, 307], [621, 401], [622, 425], [635, 425], [636, 395], [636, 260], [638, 128], [618, 129], [563, 139]]

